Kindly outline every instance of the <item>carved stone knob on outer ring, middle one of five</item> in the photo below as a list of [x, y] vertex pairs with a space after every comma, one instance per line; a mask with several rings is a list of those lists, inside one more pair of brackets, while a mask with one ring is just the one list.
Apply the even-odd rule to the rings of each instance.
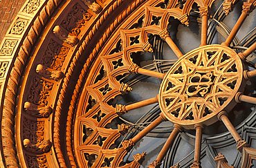
[[49, 80], [59, 81], [64, 77], [62, 71], [53, 70], [42, 64], [37, 65], [36, 72], [38, 75], [41, 75], [42, 77], [45, 77]]

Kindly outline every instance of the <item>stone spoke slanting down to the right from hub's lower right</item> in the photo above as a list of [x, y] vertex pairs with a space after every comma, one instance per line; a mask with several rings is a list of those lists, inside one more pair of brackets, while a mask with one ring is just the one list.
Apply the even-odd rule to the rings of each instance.
[[228, 131], [231, 133], [232, 137], [237, 142], [237, 149], [239, 151], [241, 151], [241, 149], [243, 147], [248, 146], [248, 144], [244, 140], [242, 140], [241, 136], [239, 136], [239, 133], [237, 133], [237, 130], [235, 129], [235, 127], [232, 125], [232, 123], [228, 119], [228, 115], [227, 115], [226, 111], [221, 111], [221, 113], [218, 114], [218, 118], [219, 118], [219, 120], [221, 120], [223, 122], [223, 124], [225, 124], [226, 128], [228, 129]]

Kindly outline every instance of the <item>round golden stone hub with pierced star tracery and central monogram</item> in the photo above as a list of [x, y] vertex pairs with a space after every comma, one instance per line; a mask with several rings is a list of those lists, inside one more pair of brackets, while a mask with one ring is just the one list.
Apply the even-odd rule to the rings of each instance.
[[159, 93], [161, 111], [187, 129], [212, 124], [219, 112], [235, 106], [242, 82], [243, 64], [234, 50], [221, 45], [196, 48], [165, 75]]

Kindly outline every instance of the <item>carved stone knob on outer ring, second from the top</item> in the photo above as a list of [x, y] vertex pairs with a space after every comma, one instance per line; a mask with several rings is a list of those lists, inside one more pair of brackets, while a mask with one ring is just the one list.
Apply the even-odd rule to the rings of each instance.
[[62, 41], [66, 42], [66, 44], [69, 44], [71, 46], [75, 46], [79, 39], [74, 35], [68, 35], [68, 31], [66, 31], [61, 26], [55, 26], [53, 28], [53, 33]]

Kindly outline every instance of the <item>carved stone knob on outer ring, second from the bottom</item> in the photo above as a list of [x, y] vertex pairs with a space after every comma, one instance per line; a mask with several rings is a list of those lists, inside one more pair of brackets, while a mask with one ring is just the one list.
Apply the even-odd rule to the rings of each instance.
[[37, 104], [30, 102], [24, 103], [24, 109], [29, 115], [32, 115], [36, 118], [48, 118], [53, 111], [51, 106], [38, 106]]

